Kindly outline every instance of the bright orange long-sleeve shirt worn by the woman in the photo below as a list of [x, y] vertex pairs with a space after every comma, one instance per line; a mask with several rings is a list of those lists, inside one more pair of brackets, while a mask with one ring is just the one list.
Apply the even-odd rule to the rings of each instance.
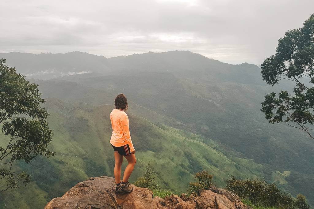
[[127, 113], [122, 110], [113, 109], [110, 113], [110, 121], [112, 126], [110, 144], [115, 147], [129, 144], [130, 151], [135, 151], [130, 136], [129, 118], [127, 117]]

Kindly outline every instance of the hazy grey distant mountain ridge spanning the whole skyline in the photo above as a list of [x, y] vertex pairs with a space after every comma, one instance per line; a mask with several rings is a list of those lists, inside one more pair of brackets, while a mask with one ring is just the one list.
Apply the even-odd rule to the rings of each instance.
[[0, 53], [0, 57], [7, 59], [8, 65], [15, 66], [18, 73], [28, 78], [44, 80], [84, 73], [108, 75], [123, 71], [144, 71], [180, 72], [184, 76], [191, 75], [191, 72], [197, 72], [207, 77], [217, 77], [218, 75], [219, 79], [227, 76], [229, 80], [235, 77], [234, 74], [238, 74], [238, 76], [245, 74], [246, 76], [251, 75], [250, 78], [253, 82], [260, 82], [258, 79], [260, 76], [257, 76], [260, 69], [256, 65], [247, 63], [230, 65], [190, 51], [148, 52], [109, 59], [86, 52], [38, 55], [10, 52]]

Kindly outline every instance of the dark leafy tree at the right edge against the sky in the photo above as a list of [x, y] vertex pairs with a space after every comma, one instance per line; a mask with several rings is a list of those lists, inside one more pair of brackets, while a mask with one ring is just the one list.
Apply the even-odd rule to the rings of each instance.
[[278, 42], [276, 54], [262, 64], [263, 81], [274, 86], [286, 79], [295, 82], [295, 88], [292, 94], [268, 94], [261, 111], [269, 123], [284, 122], [314, 139], [314, 14], [302, 28], [287, 31]]

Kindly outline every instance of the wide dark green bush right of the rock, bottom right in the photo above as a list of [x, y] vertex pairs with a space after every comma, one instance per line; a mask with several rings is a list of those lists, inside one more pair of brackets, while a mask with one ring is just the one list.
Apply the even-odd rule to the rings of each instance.
[[304, 196], [300, 196], [300, 200], [295, 200], [290, 195], [282, 193], [274, 183], [268, 184], [265, 180], [237, 180], [231, 177], [227, 180], [226, 189], [236, 193], [242, 199], [250, 201], [253, 205], [299, 209], [308, 208], [306, 207], [308, 204]]

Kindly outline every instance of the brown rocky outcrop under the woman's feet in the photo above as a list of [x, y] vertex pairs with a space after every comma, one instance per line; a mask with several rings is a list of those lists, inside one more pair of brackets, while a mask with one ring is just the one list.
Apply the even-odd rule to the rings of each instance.
[[211, 187], [203, 190], [194, 200], [184, 201], [182, 197], [172, 195], [165, 199], [153, 197], [147, 188], [134, 186], [129, 194], [116, 194], [113, 190], [114, 178], [101, 176], [89, 178], [67, 191], [62, 197], [53, 198], [45, 209], [250, 209], [238, 196], [221, 188]]

